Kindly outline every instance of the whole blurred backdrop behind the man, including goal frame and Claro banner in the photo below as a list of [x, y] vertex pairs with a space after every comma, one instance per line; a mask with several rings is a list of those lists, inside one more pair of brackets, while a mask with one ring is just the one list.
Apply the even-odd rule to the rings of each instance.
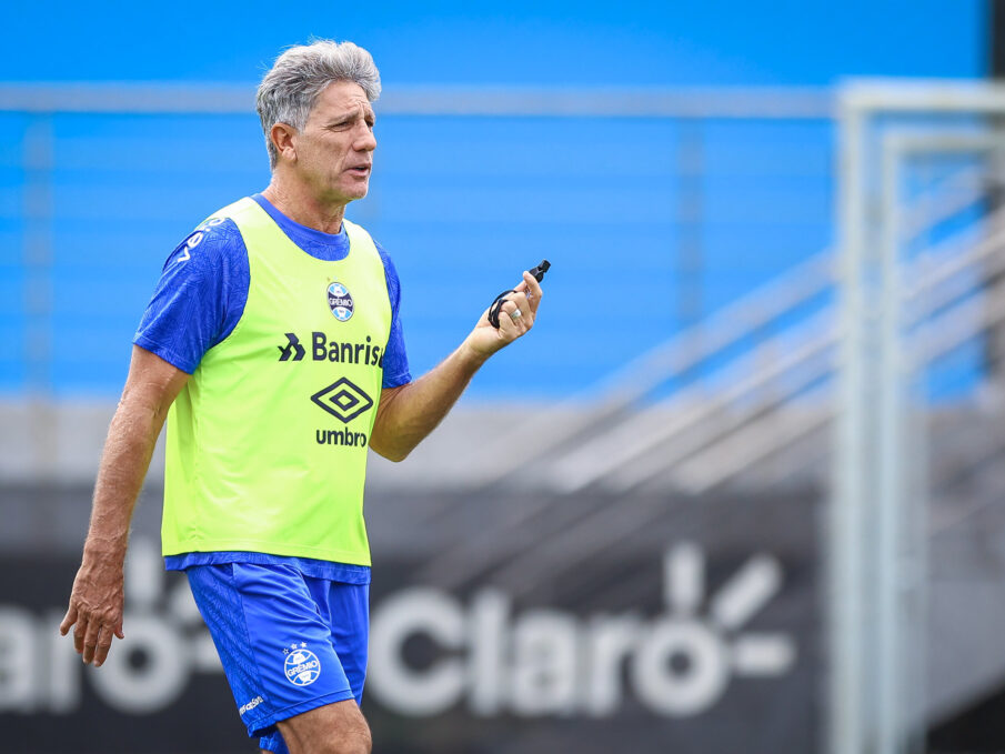
[[1005, 750], [1001, 3], [59, 0], [0, 27], [0, 751], [247, 752], [138, 510], [128, 640], [57, 634], [161, 265], [261, 190], [257, 78], [384, 81], [413, 372], [549, 258], [533, 336], [374, 459], [388, 754]]

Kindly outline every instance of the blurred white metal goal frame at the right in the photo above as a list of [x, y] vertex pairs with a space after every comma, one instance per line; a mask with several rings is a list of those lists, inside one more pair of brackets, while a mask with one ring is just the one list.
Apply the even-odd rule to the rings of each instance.
[[[828, 535], [828, 754], [924, 746], [925, 432], [907, 395], [901, 183], [918, 158], [1005, 152], [1005, 87], [861, 81], [838, 95], [840, 356]], [[974, 117], [961, 124], [959, 118]], [[919, 124], [921, 123], [921, 124]], [[917, 456], [917, 455], [916, 455]]]

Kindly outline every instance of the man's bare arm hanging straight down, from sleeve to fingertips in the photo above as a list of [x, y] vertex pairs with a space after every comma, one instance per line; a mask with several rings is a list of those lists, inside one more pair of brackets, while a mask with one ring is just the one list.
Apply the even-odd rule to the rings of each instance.
[[111, 647], [112, 634], [123, 637], [123, 564], [129, 522], [168, 409], [188, 379], [185, 372], [160, 356], [133, 346], [125, 389], [101, 454], [83, 559], [69, 610], [59, 626], [66, 636], [77, 624], [73, 645], [83, 655], [84, 664], [101, 665]]

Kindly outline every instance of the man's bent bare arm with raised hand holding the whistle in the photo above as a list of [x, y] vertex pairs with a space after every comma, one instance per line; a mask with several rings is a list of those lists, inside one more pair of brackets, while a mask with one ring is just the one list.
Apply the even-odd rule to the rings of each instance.
[[[414, 382], [381, 391], [370, 446], [391, 461], [402, 461], [414, 450], [464, 392], [489, 356], [534, 326], [541, 305], [541, 285], [523, 273], [516, 293], [503, 304], [499, 330], [489, 323], [489, 311], [456, 351]], [[513, 314], [520, 310], [515, 320]]]

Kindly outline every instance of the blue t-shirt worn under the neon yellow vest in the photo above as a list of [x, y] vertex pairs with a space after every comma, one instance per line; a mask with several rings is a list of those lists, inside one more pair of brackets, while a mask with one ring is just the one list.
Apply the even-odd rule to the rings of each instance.
[[[322, 233], [290, 220], [260, 193], [252, 199], [293, 243], [311, 257], [334, 262], [349, 253], [349, 237], [344, 228], [339, 233]], [[391, 333], [384, 350], [383, 386], [398, 388], [412, 380], [399, 316], [401, 284], [391, 258], [380, 244], [376, 244], [376, 250], [384, 264], [391, 301]], [[168, 257], [133, 343], [191, 374], [203, 354], [223, 341], [238, 324], [248, 302], [250, 281], [248, 249], [237, 224], [224, 220], [200, 225]], [[331, 581], [355, 584], [370, 581], [370, 569], [366, 566], [305, 557], [212, 552], [165, 559], [168, 569], [172, 571], [190, 565], [239, 562], [284, 563], [308, 575]]]

